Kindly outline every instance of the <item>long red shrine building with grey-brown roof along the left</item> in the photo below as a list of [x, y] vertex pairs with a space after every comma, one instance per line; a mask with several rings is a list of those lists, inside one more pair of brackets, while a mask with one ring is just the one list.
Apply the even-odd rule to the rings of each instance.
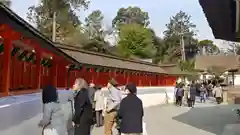
[[0, 4], [0, 96], [34, 93], [47, 84], [71, 87], [76, 78], [106, 85], [173, 86], [177, 76], [159, 65], [56, 45]]

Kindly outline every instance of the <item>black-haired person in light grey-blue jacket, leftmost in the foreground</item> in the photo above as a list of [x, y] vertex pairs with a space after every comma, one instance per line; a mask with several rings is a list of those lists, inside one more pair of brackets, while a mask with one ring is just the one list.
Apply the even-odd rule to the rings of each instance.
[[58, 101], [56, 87], [48, 85], [42, 90], [43, 117], [38, 126], [43, 135], [67, 135], [66, 121]]

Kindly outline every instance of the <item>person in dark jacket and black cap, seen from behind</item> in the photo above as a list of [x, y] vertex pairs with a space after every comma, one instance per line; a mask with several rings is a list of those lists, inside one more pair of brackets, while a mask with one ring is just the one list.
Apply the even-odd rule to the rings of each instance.
[[121, 119], [120, 132], [122, 135], [140, 135], [143, 132], [143, 104], [136, 95], [135, 84], [128, 84], [125, 89], [128, 95], [121, 101], [118, 114]]

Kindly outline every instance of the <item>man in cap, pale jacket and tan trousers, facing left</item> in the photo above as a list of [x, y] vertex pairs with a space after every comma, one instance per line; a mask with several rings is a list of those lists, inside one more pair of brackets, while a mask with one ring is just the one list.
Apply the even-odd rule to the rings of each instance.
[[112, 135], [112, 128], [116, 122], [117, 111], [122, 99], [122, 93], [117, 85], [118, 83], [114, 79], [111, 79], [107, 84], [109, 95], [104, 113], [104, 135]]

